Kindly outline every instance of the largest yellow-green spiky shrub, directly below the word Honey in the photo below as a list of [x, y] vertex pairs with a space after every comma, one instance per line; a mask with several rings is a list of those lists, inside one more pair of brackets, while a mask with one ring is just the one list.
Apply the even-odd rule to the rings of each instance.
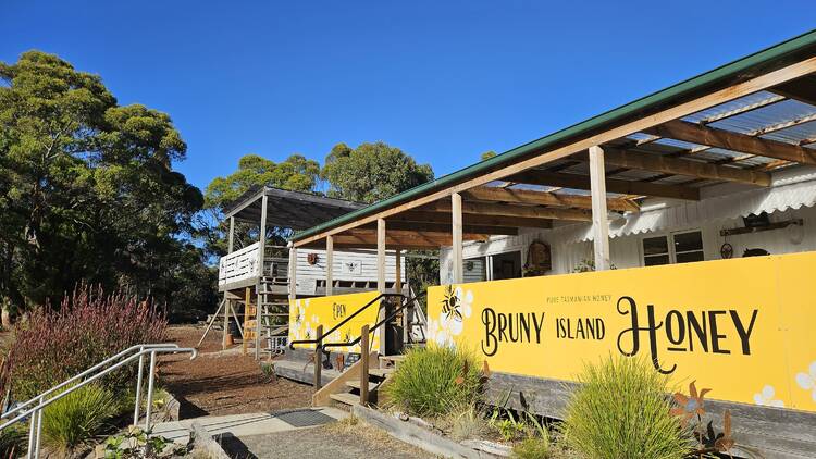
[[588, 458], [683, 458], [691, 435], [669, 413], [668, 381], [645, 360], [608, 358], [578, 376], [561, 424], [566, 446]]

